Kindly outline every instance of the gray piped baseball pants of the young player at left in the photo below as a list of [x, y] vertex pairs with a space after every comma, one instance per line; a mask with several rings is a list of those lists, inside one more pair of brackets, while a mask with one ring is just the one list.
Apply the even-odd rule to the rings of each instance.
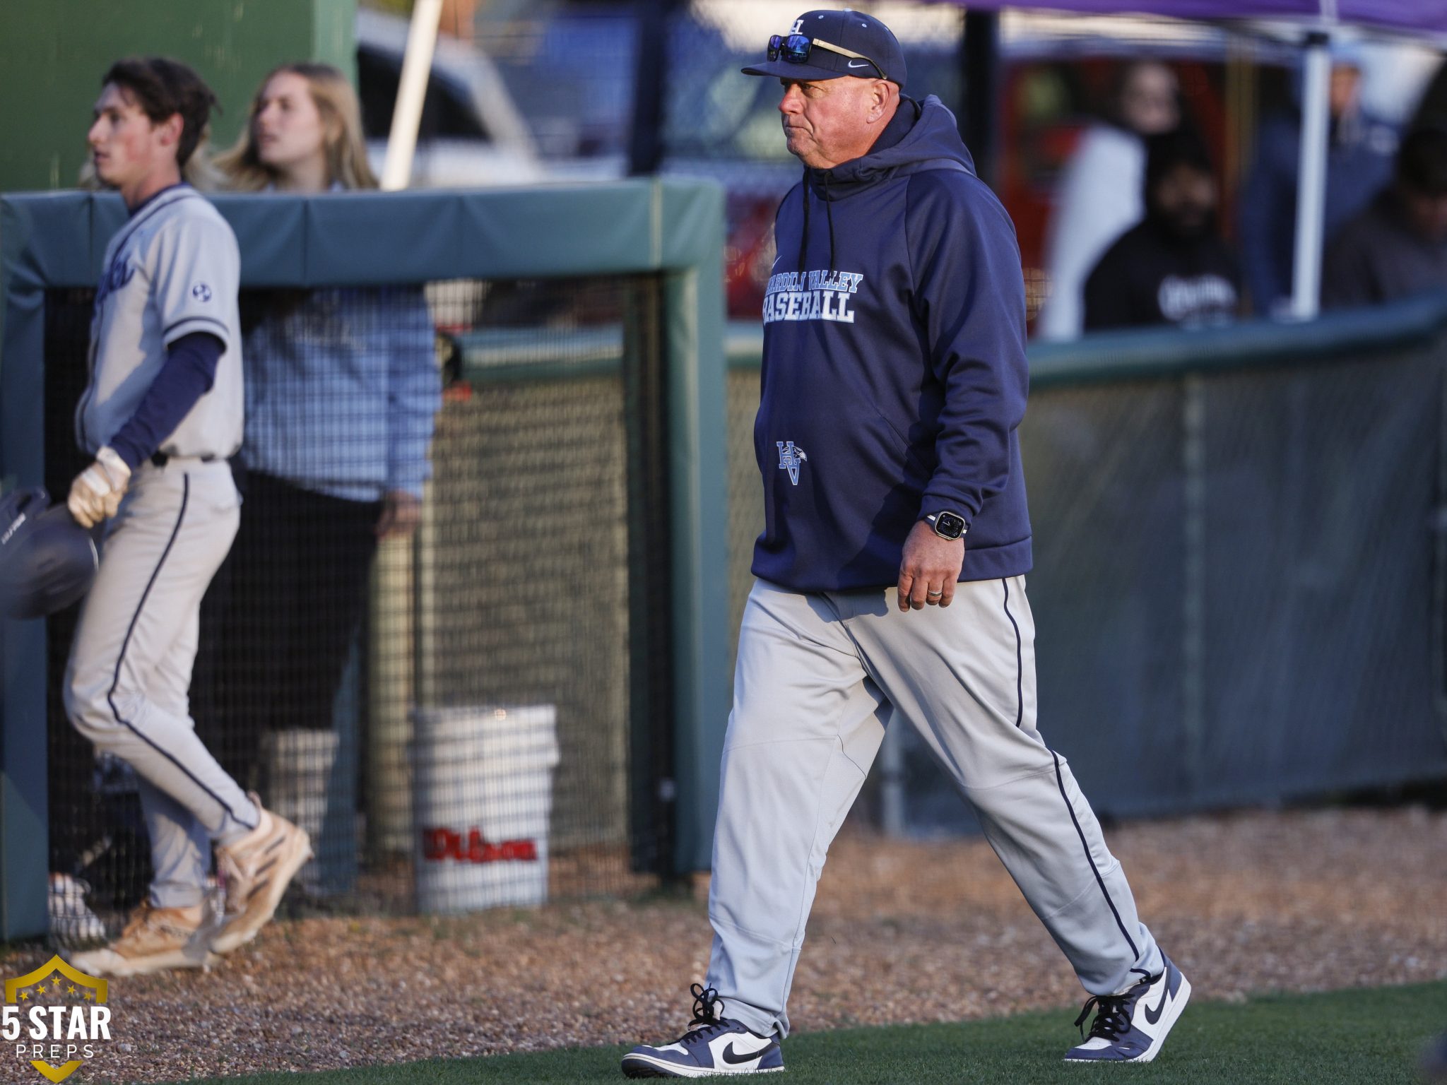
[[65, 712], [97, 751], [136, 771], [156, 907], [200, 904], [211, 842], [232, 843], [258, 822], [197, 738], [190, 709], [201, 596], [239, 524], [224, 460], [137, 467], [71, 647]]

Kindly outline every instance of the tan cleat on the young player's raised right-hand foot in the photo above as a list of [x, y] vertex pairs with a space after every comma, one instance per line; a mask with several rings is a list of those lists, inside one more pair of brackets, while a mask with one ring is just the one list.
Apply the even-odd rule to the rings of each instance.
[[226, 893], [221, 930], [211, 949], [230, 953], [256, 937], [281, 904], [292, 875], [311, 858], [311, 838], [285, 817], [263, 810], [252, 796], [260, 823], [230, 848], [216, 849], [216, 867]]

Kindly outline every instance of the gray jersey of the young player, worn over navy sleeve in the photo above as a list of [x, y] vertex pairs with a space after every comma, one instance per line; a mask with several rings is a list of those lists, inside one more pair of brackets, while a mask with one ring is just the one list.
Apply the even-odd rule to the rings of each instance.
[[90, 385], [75, 408], [75, 438], [109, 444], [140, 405], [166, 347], [204, 331], [226, 344], [216, 382], [161, 443], [168, 456], [224, 459], [242, 444], [242, 256], [220, 213], [188, 185], [168, 188], [106, 247], [91, 317]]

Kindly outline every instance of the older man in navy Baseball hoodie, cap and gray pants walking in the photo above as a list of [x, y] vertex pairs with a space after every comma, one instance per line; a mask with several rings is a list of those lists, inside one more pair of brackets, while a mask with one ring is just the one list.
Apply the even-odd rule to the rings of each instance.
[[[744, 69], [783, 84], [803, 182], [764, 299], [765, 527], [724, 742], [692, 1027], [629, 1076], [781, 1071], [829, 842], [886, 726], [913, 726], [1090, 992], [1071, 1062], [1145, 1062], [1191, 985], [1035, 719], [1024, 286], [1014, 227], [877, 19], [807, 12]], [[1082, 1030], [1084, 1031], [1084, 1030]]]

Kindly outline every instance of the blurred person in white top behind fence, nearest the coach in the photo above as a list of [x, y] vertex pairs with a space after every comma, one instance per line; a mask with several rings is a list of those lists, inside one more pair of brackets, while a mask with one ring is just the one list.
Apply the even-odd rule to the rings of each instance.
[[1085, 276], [1106, 247], [1140, 221], [1142, 139], [1181, 122], [1175, 72], [1155, 61], [1120, 74], [1110, 123], [1092, 124], [1061, 176], [1045, 240], [1051, 295], [1036, 326], [1042, 339], [1075, 339], [1082, 328]]

